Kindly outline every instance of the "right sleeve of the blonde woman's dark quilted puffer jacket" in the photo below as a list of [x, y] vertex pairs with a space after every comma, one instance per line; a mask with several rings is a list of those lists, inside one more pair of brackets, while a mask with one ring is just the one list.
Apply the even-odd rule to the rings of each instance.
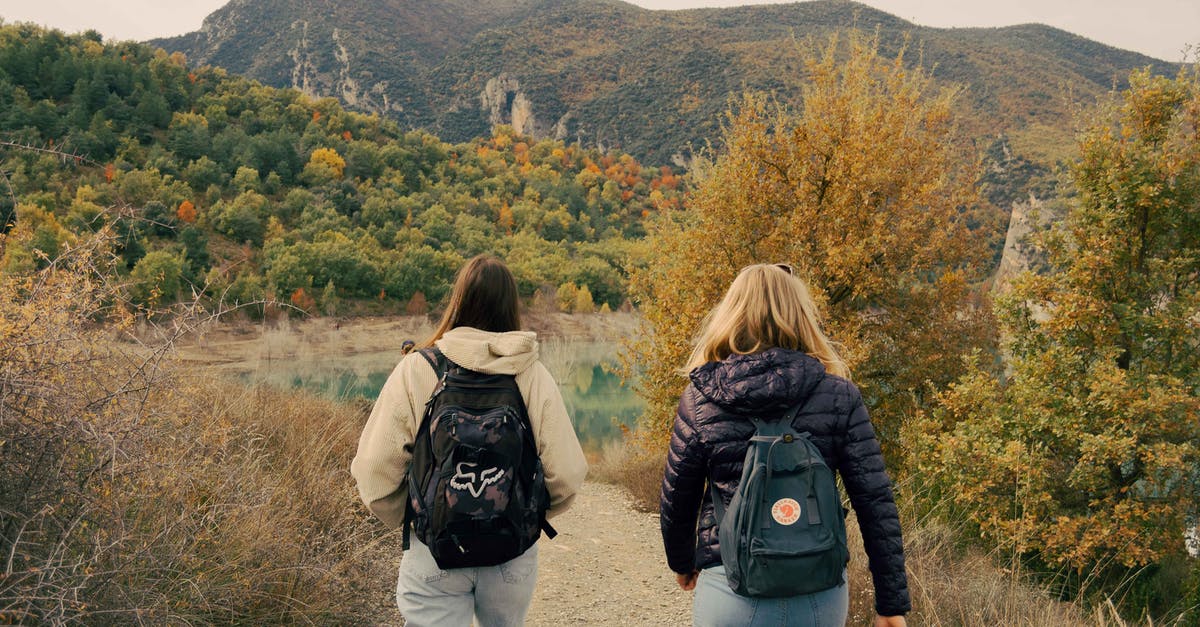
[[875, 611], [881, 616], [906, 614], [912, 603], [892, 479], [883, 466], [883, 454], [863, 398], [858, 389], [851, 387], [851, 410], [838, 472], [863, 532], [863, 545], [875, 581]]

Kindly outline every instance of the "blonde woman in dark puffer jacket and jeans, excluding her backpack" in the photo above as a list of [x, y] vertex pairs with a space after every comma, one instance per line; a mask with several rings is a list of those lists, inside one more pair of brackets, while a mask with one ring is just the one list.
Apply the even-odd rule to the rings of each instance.
[[[804, 281], [786, 264], [744, 268], [706, 318], [686, 370], [660, 518], [667, 563], [680, 587], [696, 591], [694, 623], [846, 623], [845, 571], [834, 573], [832, 587], [784, 597], [742, 596], [726, 580], [718, 512], [738, 489], [755, 422], [791, 418], [787, 426], [808, 435], [842, 478], [870, 562], [876, 627], [904, 626], [911, 603], [892, 482], [862, 395], [821, 330]], [[714, 497], [721, 500], [715, 507]]]

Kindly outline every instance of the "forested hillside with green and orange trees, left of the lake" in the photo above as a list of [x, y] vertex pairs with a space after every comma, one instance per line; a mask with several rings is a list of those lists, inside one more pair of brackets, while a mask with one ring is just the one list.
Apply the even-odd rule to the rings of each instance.
[[630, 239], [680, 199], [679, 177], [629, 155], [504, 127], [448, 144], [182, 55], [28, 25], [0, 28], [0, 138], [4, 270], [116, 219], [115, 271], [145, 305], [204, 289], [425, 311], [463, 258], [496, 252], [532, 300], [617, 307]]

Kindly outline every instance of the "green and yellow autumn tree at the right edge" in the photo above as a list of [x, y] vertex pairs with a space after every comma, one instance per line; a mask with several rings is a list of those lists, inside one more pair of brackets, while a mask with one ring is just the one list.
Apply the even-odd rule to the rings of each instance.
[[1007, 372], [974, 369], [912, 440], [985, 537], [1093, 574], [1182, 557], [1196, 524], [1196, 74], [1133, 74], [1079, 150], [1048, 271], [997, 303]]

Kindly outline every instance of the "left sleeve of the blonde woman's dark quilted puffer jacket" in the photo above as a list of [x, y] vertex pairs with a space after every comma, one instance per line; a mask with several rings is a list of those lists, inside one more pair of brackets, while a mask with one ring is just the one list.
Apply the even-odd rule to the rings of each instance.
[[696, 394], [695, 388], [688, 386], [679, 399], [659, 497], [667, 566], [682, 574], [696, 569], [696, 520], [708, 471], [708, 452], [696, 430]]

